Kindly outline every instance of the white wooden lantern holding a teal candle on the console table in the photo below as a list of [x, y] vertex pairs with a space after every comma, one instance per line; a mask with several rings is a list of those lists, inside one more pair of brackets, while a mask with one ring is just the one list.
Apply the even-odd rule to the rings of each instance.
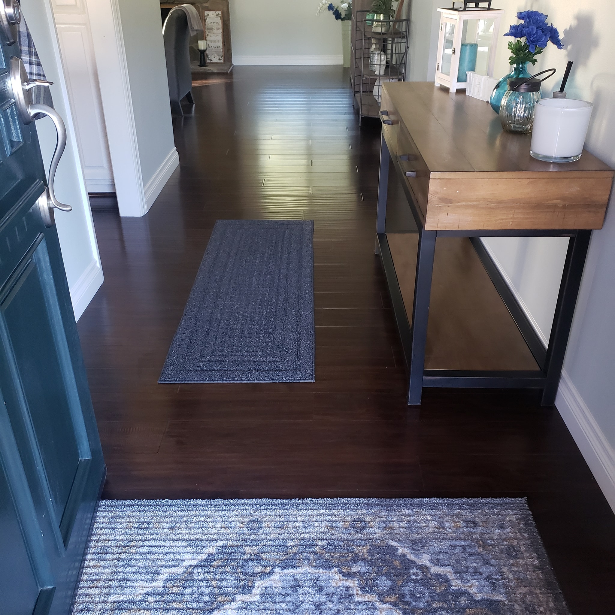
[[460, 9], [453, 2], [450, 9], [438, 11], [440, 38], [435, 84], [446, 85], [453, 93], [466, 89], [469, 72], [493, 77], [499, 24], [505, 11], [491, 9], [491, 0], [464, 0]]

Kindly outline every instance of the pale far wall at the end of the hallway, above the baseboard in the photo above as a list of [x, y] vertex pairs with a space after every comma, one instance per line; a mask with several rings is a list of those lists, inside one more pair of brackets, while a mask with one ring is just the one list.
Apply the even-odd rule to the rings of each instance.
[[318, 0], [230, 0], [237, 65], [341, 64], [341, 22]]

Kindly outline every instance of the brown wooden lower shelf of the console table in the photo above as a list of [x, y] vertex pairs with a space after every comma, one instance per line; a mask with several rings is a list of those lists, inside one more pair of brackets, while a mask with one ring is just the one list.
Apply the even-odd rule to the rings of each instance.
[[[409, 357], [418, 234], [387, 234], [379, 236], [379, 242], [402, 344]], [[397, 301], [395, 293], [399, 293]], [[463, 384], [466, 378], [468, 383]], [[487, 384], [486, 379], [492, 380]], [[424, 386], [473, 386], [470, 381], [474, 386], [507, 386], [509, 379], [518, 379], [510, 386], [544, 384], [541, 368], [470, 240], [438, 237]]]

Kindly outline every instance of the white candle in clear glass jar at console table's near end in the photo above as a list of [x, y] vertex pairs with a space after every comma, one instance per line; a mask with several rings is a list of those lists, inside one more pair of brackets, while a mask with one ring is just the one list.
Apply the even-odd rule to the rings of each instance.
[[578, 160], [592, 108], [592, 103], [585, 100], [542, 98], [537, 101], [530, 154], [547, 162]]

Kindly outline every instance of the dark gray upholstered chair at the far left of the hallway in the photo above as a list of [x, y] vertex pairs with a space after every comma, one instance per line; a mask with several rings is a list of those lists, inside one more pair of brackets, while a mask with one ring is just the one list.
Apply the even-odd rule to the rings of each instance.
[[188, 33], [188, 18], [183, 10], [173, 10], [167, 17], [164, 28], [164, 53], [167, 57], [167, 77], [169, 78], [169, 97], [171, 112], [175, 116], [183, 116], [180, 100], [186, 97], [191, 105], [192, 74], [190, 70], [190, 34]]

